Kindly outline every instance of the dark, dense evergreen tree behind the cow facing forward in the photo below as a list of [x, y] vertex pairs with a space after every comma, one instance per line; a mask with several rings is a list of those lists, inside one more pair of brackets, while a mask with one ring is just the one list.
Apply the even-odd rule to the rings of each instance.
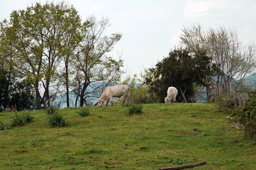
[[194, 86], [206, 85], [215, 70], [216, 65], [211, 64], [211, 58], [205, 51], [190, 53], [189, 49], [177, 48], [171, 50], [169, 56], [158, 62], [155, 68], [149, 69], [153, 75], [146, 79], [146, 84], [161, 102], [164, 102], [167, 89], [171, 86], [178, 89], [178, 100], [183, 98], [185, 103], [193, 102]]

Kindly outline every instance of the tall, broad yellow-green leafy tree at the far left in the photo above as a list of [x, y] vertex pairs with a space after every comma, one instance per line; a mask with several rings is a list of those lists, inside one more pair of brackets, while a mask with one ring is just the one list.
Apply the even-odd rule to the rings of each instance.
[[77, 11], [65, 2], [35, 3], [26, 10], [13, 11], [10, 21], [1, 23], [1, 57], [32, 83], [37, 109], [51, 98], [49, 91], [57, 79], [57, 68], [63, 54], [68, 56], [66, 53], [72, 51], [75, 43], [71, 41], [76, 41], [73, 33], [79, 32], [79, 24]]

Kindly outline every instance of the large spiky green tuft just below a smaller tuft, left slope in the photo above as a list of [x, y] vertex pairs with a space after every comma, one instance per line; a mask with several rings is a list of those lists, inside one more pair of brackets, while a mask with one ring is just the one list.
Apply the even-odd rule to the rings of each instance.
[[58, 112], [51, 115], [49, 114], [47, 116], [46, 126], [48, 127], [52, 127], [52, 126], [63, 127], [66, 125], [67, 125], [67, 122], [63, 118], [63, 115]]

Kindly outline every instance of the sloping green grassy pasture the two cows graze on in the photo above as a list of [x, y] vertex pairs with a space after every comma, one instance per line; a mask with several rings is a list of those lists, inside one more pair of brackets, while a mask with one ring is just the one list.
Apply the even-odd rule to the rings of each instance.
[[[60, 109], [63, 128], [46, 127], [44, 111], [32, 111], [32, 123], [0, 131], [0, 169], [146, 170], [203, 160], [191, 169], [256, 169], [255, 144], [214, 104], [145, 104], [132, 116], [126, 109], [95, 106], [89, 117]], [[0, 120], [10, 115], [0, 113]]]

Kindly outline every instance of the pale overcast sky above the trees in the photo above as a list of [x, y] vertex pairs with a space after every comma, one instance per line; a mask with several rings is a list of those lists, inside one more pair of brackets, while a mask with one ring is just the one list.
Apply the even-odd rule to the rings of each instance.
[[[0, 0], [0, 20], [9, 20], [13, 10], [31, 6], [31, 0]], [[45, 0], [39, 1], [42, 4]], [[106, 34], [123, 34], [109, 55], [123, 50], [124, 68], [130, 74], [155, 65], [178, 46], [183, 26], [200, 22], [209, 27], [236, 27], [243, 42], [256, 43], [255, 0], [69, 0], [83, 21], [95, 13], [108, 16], [112, 26]]]

